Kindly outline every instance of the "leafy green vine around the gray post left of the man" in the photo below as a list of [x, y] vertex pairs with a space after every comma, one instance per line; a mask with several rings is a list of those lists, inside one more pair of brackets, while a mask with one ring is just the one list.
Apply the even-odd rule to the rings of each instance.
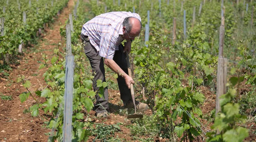
[[[57, 47], [54, 51], [58, 51]], [[91, 75], [85, 73], [86, 66], [85, 55], [82, 52], [82, 45], [79, 44], [74, 46], [74, 56], [75, 56], [75, 68], [74, 68], [74, 91], [73, 91], [73, 139], [77, 141], [86, 140], [90, 136], [90, 132], [85, 129], [85, 126], [90, 126], [91, 122], [81, 122], [84, 119], [84, 114], [82, 113], [83, 108], [87, 112], [91, 111], [93, 108], [93, 100], [95, 92], [92, 90]], [[47, 56], [43, 55], [44, 62], [42, 62], [40, 68], [47, 68], [44, 73], [44, 78], [49, 87], [43, 90], [37, 90], [35, 92], [36, 96], [46, 98], [44, 103], [37, 102], [35, 105], [30, 107], [30, 113], [32, 116], [39, 115], [39, 109], [43, 110], [45, 114], [51, 115], [51, 120], [49, 121], [48, 128], [56, 129], [57, 133], [51, 133], [50, 139], [62, 138], [62, 126], [63, 126], [63, 94], [65, 93], [65, 63], [64, 59], [61, 59], [61, 55], [55, 52], [55, 56], [52, 57], [49, 63]], [[64, 65], [64, 66], [63, 66]], [[90, 73], [90, 72], [88, 72]], [[90, 73], [91, 74], [91, 73]], [[31, 83], [25, 79], [24, 76], [17, 79], [17, 82], [22, 82], [23, 87], [25, 87], [28, 92], [22, 93], [20, 95], [21, 102], [27, 100], [30, 96], [34, 96], [29, 91]], [[106, 82], [98, 81], [98, 86], [100, 88], [106, 87]], [[33, 97], [34, 98], [34, 97]], [[34, 98], [35, 99], [35, 98]], [[57, 119], [56, 119], [57, 116]]]

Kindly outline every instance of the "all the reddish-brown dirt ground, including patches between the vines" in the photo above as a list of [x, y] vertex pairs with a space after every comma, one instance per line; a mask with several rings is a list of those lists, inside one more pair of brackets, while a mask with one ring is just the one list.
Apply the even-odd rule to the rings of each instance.
[[[27, 91], [21, 84], [17, 82], [17, 78], [25, 76], [32, 84], [30, 91], [33, 93], [38, 89], [44, 89], [46, 84], [43, 78], [44, 69], [38, 70], [40, 63], [43, 62], [42, 55], [46, 54], [48, 59], [53, 55], [53, 48], [59, 43], [62, 43], [60, 37], [60, 26], [68, 19], [70, 8], [74, 6], [75, 0], [70, 0], [68, 6], [63, 9], [54, 23], [45, 30], [44, 34], [39, 41], [38, 49], [27, 48], [24, 55], [20, 56], [19, 64], [12, 65], [12, 71], [8, 73], [8, 79], [0, 77], [0, 95], [12, 96], [11, 101], [0, 99], [0, 141], [47, 141], [49, 134], [52, 130], [46, 128], [45, 116], [31, 117], [27, 112], [28, 108], [35, 103], [34, 99], [29, 98], [26, 102], [21, 103], [19, 95]], [[210, 114], [215, 108], [215, 95], [209, 88], [202, 87], [202, 92], [205, 94], [206, 101], [202, 106], [204, 114]], [[122, 107], [121, 99], [118, 90], [109, 90], [111, 98], [110, 103], [110, 116], [108, 119], [95, 119], [95, 123], [105, 124], [131, 124], [130, 120], [125, 119], [125, 116], [118, 115], [115, 112]], [[43, 101], [43, 100], [41, 100]], [[152, 112], [149, 110], [145, 114], [150, 115]], [[94, 116], [94, 112], [90, 113]], [[202, 121], [202, 129], [210, 131], [210, 124], [207, 118]], [[252, 124], [253, 125], [253, 124]], [[255, 124], [254, 124], [255, 125]], [[132, 140], [130, 130], [121, 125], [121, 132], [115, 133], [115, 137], [125, 138], [127, 141]], [[255, 135], [251, 135], [248, 141], [255, 141]], [[89, 141], [93, 141], [90, 137]]]

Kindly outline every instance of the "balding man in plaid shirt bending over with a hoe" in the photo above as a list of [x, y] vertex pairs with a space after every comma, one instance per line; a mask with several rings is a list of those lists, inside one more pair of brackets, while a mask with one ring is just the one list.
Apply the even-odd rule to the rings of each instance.
[[[125, 107], [134, 107], [131, 97], [130, 85], [134, 80], [127, 74], [125, 52], [130, 53], [132, 40], [139, 36], [141, 31], [141, 18], [137, 13], [109, 12], [95, 16], [83, 25], [81, 39], [85, 54], [92, 66], [94, 75], [93, 89], [99, 90], [97, 80], [106, 81], [104, 64], [118, 74], [117, 82], [121, 99]], [[126, 40], [124, 46], [121, 44]], [[108, 114], [108, 88], [104, 89], [104, 97], [96, 94], [94, 105], [97, 117], [107, 117]], [[148, 109], [148, 105], [136, 101], [138, 110]]]

